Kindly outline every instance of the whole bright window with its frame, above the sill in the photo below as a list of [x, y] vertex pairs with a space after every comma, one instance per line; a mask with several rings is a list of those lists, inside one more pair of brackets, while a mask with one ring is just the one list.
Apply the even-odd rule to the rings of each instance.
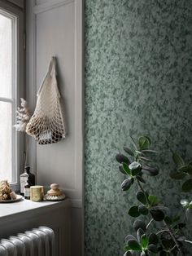
[[22, 161], [22, 139], [14, 127], [24, 84], [22, 21], [20, 9], [0, 1], [0, 180], [7, 179], [13, 186], [18, 185]]

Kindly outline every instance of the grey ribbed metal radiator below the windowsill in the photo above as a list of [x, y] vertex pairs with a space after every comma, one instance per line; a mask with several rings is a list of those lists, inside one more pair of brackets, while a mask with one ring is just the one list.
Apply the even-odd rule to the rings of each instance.
[[2, 239], [0, 256], [55, 256], [55, 233], [50, 227], [41, 226]]

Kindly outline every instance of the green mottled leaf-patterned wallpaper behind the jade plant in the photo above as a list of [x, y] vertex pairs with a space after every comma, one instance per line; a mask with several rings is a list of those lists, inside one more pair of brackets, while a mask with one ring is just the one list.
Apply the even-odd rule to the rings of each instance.
[[120, 256], [132, 231], [135, 196], [121, 191], [115, 161], [129, 132], [151, 136], [161, 152], [149, 190], [176, 210], [168, 148], [190, 158], [191, 103], [191, 0], [85, 0], [86, 256]]

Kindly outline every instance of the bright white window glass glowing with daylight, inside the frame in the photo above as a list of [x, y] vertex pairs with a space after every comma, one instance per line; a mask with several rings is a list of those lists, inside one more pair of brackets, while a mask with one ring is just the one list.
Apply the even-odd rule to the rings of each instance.
[[12, 181], [12, 31], [13, 20], [0, 13], [0, 180]]

